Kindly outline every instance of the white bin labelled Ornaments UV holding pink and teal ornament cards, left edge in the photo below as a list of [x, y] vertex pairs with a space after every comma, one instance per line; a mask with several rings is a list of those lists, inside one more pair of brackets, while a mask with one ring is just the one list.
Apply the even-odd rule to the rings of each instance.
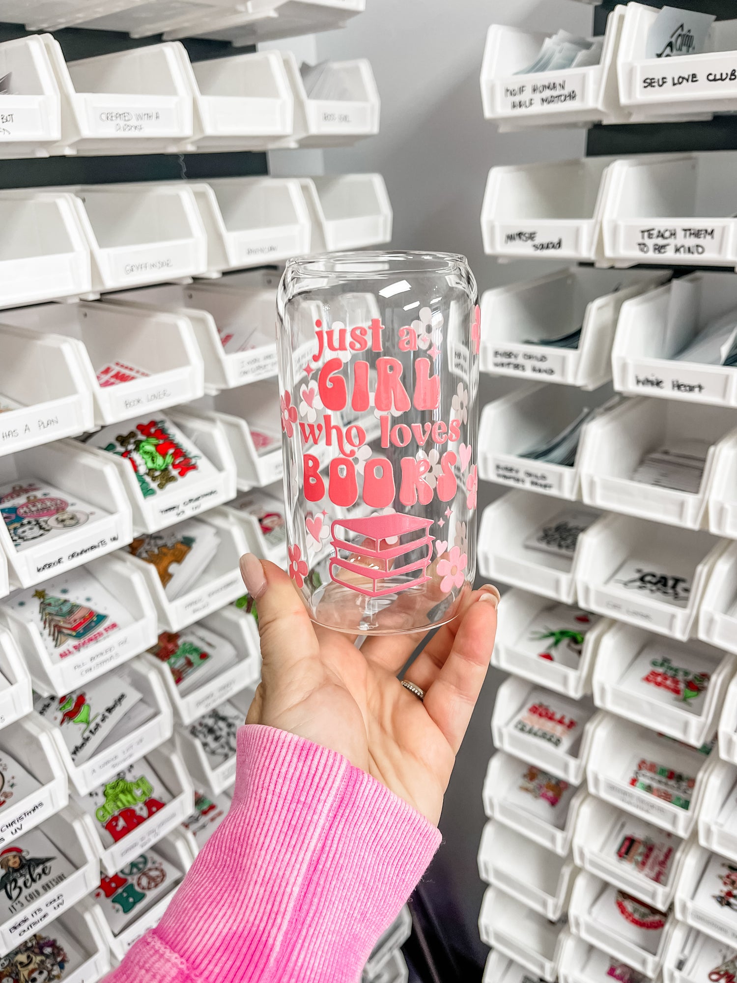
[[[86, 454], [77, 440], [55, 440], [0, 458], [0, 486], [11, 485], [13, 491], [3, 495], [0, 547], [7, 556], [14, 587], [31, 587], [50, 574], [66, 573], [133, 538], [131, 506], [115, 467]], [[46, 486], [52, 493], [51, 504], [44, 508]], [[55, 496], [57, 490], [71, 504]], [[78, 497], [79, 510], [75, 507]], [[89, 512], [88, 505], [94, 506]], [[28, 524], [28, 533], [15, 534], [18, 547], [9, 528], [14, 506], [19, 507], [15, 516], [19, 530]], [[64, 522], [52, 521], [62, 516]], [[34, 528], [39, 523], [40, 528]], [[24, 542], [25, 536], [28, 540]]]

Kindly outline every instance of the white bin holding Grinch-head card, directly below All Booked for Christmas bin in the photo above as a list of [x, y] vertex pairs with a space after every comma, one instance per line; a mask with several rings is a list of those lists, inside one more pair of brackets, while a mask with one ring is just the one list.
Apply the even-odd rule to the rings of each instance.
[[[172, 735], [174, 719], [166, 692], [158, 676], [141, 659], [116, 669], [142, 694], [143, 702], [153, 710], [153, 716], [135, 726], [129, 733], [103, 746], [82, 765], [76, 765], [60, 727], [34, 714], [32, 720], [47, 733], [56, 745], [69, 779], [80, 795], [86, 795], [97, 785], [110, 781], [131, 762], [138, 761]], [[0, 732], [1, 733], [1, 732]]]

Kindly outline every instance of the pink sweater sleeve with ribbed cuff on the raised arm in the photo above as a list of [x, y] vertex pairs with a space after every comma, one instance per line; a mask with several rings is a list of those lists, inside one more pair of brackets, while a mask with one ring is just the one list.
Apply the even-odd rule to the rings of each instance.
[[247, 724], [228, 818], [104, 983], [355, 983], [439, 842], [342, 755]]

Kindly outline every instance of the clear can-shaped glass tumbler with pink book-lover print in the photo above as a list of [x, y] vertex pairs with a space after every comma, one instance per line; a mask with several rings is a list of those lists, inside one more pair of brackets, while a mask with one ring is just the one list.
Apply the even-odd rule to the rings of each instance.
[[277, 311], [289, 573], [312, 619], [362, 635], [443, 624], [476, 568], [467, 261], [291, 260]]

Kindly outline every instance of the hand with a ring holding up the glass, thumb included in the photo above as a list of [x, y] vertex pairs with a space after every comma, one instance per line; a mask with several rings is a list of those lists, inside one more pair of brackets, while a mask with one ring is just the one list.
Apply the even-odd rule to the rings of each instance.
[[407, 670], [417, 634], [355, 635], [315, 625], [287, 574], [253, 553], [241, 573], [258, 611], [261, 682], [246, 723], [278, 727], [344, 755], [437, 824], [455, 756], [479, 697], [499, 592], [467, 589]]

